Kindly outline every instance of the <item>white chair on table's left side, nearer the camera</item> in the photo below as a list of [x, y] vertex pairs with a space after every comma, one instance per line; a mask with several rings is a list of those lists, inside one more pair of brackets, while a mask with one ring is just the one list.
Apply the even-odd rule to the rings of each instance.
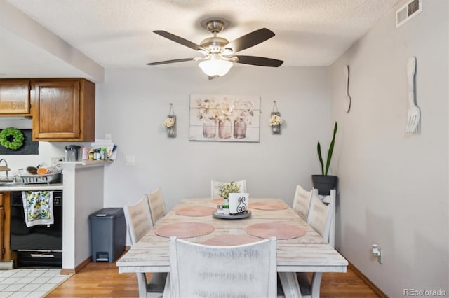
[[[131, 246], [134, 246], [152, 229], [152, 218], [149, 212], [147, 197], [142, 197], [136, 204], [123, 206], [126, 225], [130, 236]], [[167, 274], [163, 272], [153, 273], [147, 282], [147, 276], [143, 272], [136, 273], [138, 278], [139, 297], [162, 297]]]

